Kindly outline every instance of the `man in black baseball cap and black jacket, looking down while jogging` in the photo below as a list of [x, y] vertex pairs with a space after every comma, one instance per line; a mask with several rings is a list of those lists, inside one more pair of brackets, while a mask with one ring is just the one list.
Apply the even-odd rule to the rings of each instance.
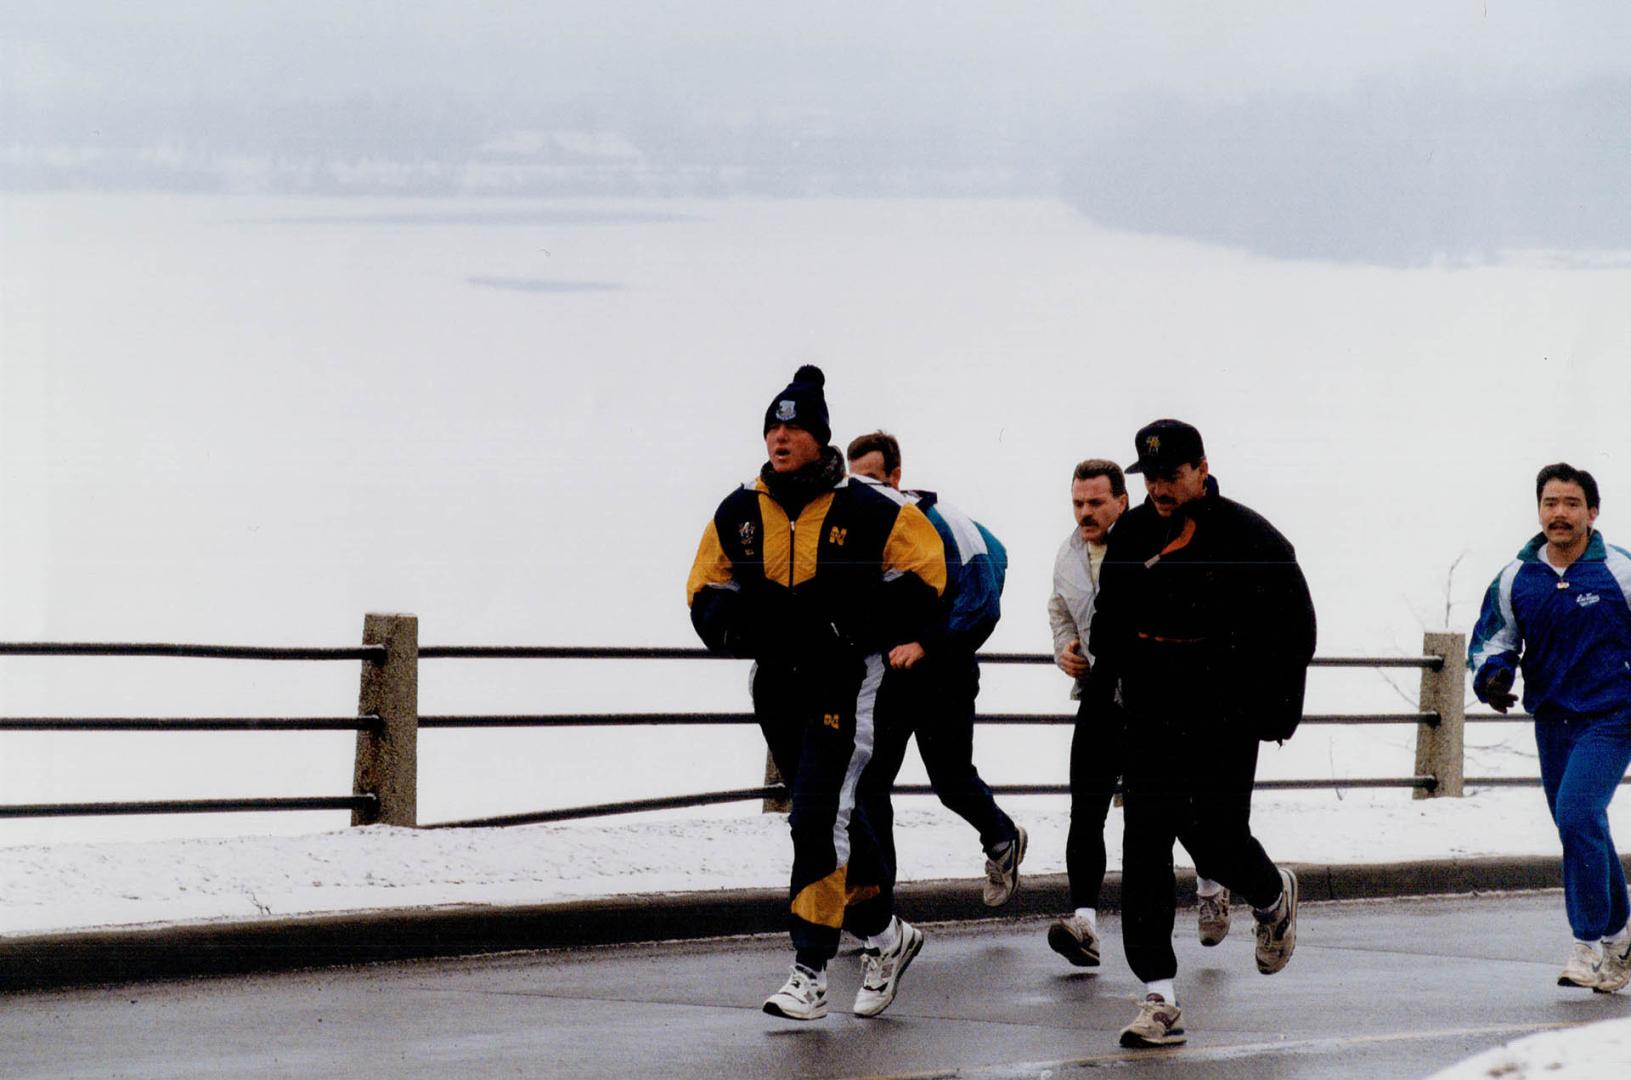
[[1315, 610], [1297, 553], [1225, 499], [1200, 432], [1158, 419], [1134, 439], [1148, 498], [1111, 530], [1090, 649], [1088, 708], [1127, 710], [1122, 938], [1145, 982], [1122, 1046], [1184, 1041], [1173, 977], [1173, 842], [1253, 905], [1258, 971], [1297, 945], [1297, 876], [1251, 835], [1258, 742], [1302, 719]]

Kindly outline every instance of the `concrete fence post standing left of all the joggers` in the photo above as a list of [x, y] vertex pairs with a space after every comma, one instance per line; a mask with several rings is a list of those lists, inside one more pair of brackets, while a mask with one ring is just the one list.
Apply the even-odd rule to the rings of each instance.
[[362, 644], [383, 644], [385, 661], [362, 661], [359, 716], [378, 723], [357, 733], [354, 795], [372, 795], [372, 809], [351, 812], [352, 825], [419, 824], [419, 620], [367, 615]]

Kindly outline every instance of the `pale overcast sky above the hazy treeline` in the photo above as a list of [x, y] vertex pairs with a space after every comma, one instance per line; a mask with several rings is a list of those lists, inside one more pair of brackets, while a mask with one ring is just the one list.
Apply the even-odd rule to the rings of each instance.
[[1014, 108], [1370, 80], [1548, 88], [1624, 75], [1631, 7], [1510, 0], [891, 3], [10, 0], [5, 100], [91, 106], [450, 90]]

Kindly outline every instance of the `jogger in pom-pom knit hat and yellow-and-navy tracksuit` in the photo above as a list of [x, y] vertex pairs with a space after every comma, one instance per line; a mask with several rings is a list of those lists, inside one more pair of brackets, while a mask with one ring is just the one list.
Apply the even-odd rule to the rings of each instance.
[[[889, 878], [858, 799], [882, 654], [936, 626], [946, 589], [944, 550], [922, 511], [845, 476], [842, 454], [827, 445], [822, 385], [819, 369], [801, 367], [771, 403], [770, 460], [719, 504], [687, 582], [703, 643], [757, 661], [754, 713], [793, 793], [798, 956], [765, 1010], [798, 1020], [825, 1015], [825, 966], [846, 912]], [[891, 910], [874, 909], [848, 920], [868, 943], [860, 1015], [889, 1005], [923, 941]]]

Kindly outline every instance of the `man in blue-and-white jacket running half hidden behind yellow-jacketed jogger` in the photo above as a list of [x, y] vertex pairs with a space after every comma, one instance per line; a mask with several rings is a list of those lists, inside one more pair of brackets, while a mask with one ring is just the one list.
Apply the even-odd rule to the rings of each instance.
[[1001, 907], [1019, 887], [1026, 834], [997, 806], [974, 767], [974, 698], [980, 692], [974, 653], [1001, 617], [1008, 553], [988, 529], [941, 502], [933, 491], [900, 491], [900, 442], [889, 432], [853, 439], [848, 458], [856, 481], [873, 480], [882, 491], [915, 504], [946, 547], [944, 620], [923, 640], [891, 651], [877, 695], [877, 744], [861, 778], [873, 827], [889, 855], [886, 866], [895, 866], [889, 791], [915, 733], [935, 795], [980, 834], [983, 901]]

